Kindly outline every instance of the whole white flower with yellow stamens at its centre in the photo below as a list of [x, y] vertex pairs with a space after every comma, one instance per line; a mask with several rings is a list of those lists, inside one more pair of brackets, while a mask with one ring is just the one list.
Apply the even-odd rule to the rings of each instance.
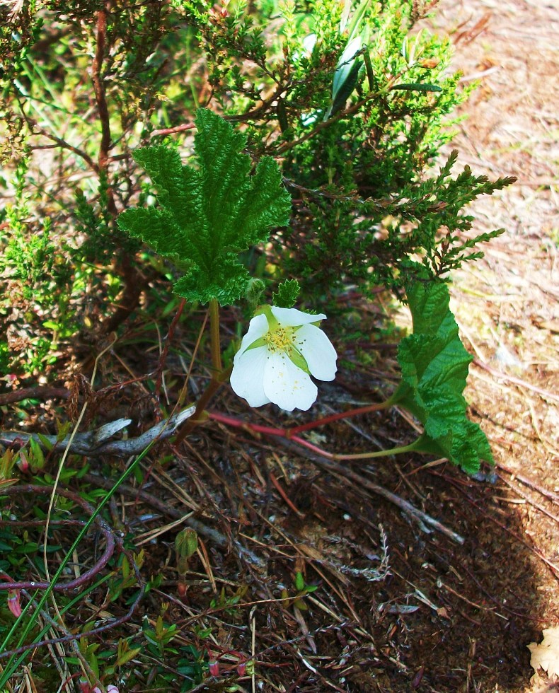
[[250, 320], [235, 355], [231, 387], [251, 407], [274, 402], [292, 412], [309, 409], [318, 390], [310, 375], [333, 380], [336, 352], [313, 323], [325, 315], [265, 305]]

